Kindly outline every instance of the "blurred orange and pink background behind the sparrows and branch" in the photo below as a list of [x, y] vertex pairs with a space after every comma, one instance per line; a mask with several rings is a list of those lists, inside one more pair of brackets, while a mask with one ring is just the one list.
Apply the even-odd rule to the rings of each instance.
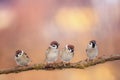
[[[120, 0], [0, 0], [0, 69], [17, 66], [15, 51], [32, 64], [43, 63], [51, 41], [75, 46], [71, 62], [86, 59], [96, 40], [99, 56], [120, 54]], [[84, 70], [27, 71], [0, 75], [0, 80], [120, 80], [120, 61]]]

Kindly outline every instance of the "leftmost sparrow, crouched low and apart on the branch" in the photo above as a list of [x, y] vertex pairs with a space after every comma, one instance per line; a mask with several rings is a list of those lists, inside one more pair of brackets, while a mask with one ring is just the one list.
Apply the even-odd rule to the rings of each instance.
[[18, 66], [28, 66], [28, 64], [31, 62], [27, 53], [25, 53], [23, 50], [16, 51], [15, 61], [16, 61]]

